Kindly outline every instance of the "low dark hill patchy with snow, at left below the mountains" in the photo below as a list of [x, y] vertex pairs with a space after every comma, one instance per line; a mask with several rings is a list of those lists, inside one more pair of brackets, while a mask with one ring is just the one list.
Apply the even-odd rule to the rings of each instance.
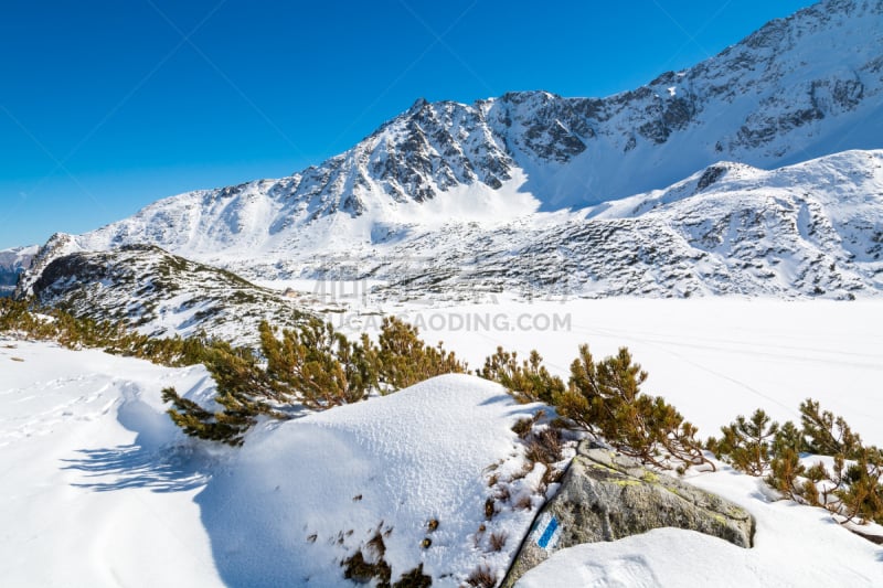
[[151, 336], [205, 333], [234, 343], [255, 343], [262, 320], [292, 327], [304, 318], [292, 298], [159, 247], [63, 254], [65, 240], [52, 243], [55, 255], [38, 256], [29, 290], [77, 317], [120, 321]]

